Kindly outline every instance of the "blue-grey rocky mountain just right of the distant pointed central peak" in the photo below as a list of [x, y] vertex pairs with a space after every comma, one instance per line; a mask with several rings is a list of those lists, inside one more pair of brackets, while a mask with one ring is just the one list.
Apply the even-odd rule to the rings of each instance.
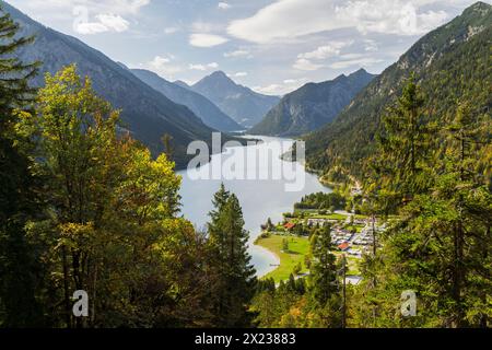
[[301, 136], [332, 121], [375, 75], [361, 69], [332, 81], [308, 83], [285, 95], [251, 135]]

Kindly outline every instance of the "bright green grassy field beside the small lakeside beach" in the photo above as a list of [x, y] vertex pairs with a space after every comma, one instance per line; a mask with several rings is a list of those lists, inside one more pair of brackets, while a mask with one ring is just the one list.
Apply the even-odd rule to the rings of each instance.
[[[282, 242], [286, 238], [289, 241], [289, 252], [282, 252]], [[274, 253], [280, 258], [280, 267], [274, 271], [268, 273], [265, 278], [273, 278], [276, 283], [288, 280], [294, 267], [301, 262], [303, 272], [306, 271], [304, 266], [304, 256], [309, 250], [309, 241], [305, 237], [293, 237], [283, 235], [271, 235], [268, 238], [259, 238], [256, 242], [268, 250]]]

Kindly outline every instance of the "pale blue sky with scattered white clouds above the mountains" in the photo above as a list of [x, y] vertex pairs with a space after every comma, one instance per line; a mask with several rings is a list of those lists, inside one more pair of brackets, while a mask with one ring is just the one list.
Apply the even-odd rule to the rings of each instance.
[[361, 67], [379, 73], [419, 37], [476, 1], [8, 2], [131, 68], [188, 83], [223, 70], [258, 92], [282, 95]]

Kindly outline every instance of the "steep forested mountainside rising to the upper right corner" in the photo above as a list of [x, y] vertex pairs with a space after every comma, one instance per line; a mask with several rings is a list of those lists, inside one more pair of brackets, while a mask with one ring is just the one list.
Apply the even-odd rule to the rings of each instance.
[[459, 101], [467, 101], [475, 115], [488, 115], [490, 122], [491, 38], [492, 7], [484, 2], [477, 2], [422, 37], [374, 79], [333, 122], [305, 138], [307, 166], [328, 176], [330, 171], [340, 168], [362, 177], [375, 150], [382, 116], [412, 73], [425, 96], [423, 109], [437, 126], [449, 125]]

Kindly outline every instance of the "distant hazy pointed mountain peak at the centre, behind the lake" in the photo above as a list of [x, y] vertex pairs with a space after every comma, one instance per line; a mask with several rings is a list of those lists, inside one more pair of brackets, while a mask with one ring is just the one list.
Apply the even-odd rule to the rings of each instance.
[[258, 124], [280, 102], [278, 96], [262, 95], [236, 84], [222, 71], [204, 77], [189, 89], [212, 101], [245, 128]]

